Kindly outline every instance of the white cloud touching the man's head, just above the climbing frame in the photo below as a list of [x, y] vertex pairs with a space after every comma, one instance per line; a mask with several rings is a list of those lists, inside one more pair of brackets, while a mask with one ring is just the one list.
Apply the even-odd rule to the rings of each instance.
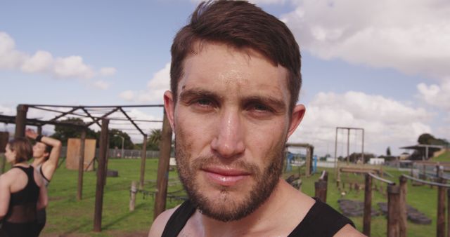
[[162, 104], [162, 97], [166, 90], [170, 88], [170, 63], [163, 69], [153, 74], [153, 78], [147, 83], [146, 90], [125, 90], [119, 97], [127, 101], [153, 102]]

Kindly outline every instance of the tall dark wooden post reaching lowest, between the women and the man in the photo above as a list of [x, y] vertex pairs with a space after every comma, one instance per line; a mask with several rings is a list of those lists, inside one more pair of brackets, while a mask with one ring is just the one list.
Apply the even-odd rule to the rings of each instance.
[[108, 149], [108, 118], [101, 120], [101, 134], [100, 134], [100, 154], [98, 157], [97, 169], [97, 185], [96, 185], [96, 206], [94, 211], [94, 231], [101, 231], [101, 212], [103, 208], [103, 187], [105, 180], [105, 161]]

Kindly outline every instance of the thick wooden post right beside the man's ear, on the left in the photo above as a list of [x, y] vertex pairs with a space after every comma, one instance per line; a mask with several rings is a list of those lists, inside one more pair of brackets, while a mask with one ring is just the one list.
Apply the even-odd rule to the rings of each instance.
[[172, 128], [167, 120], [166, 111], [162, 121], [160, 160], [158, 162], [158, 177], [156, 178], [155, 209], [153, 219], [156, 219], [166, 209], [167, 180], [169, 178], [169, 159], [172, 149]]

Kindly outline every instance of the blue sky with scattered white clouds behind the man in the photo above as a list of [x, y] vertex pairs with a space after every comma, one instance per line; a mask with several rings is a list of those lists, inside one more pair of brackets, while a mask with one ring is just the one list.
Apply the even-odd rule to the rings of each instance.
[[[253, 2], [286, 22], [302, 48], [307, 114], [291, 142], [333, 154], [336, 126], [365, 128], [375, 154], [399, 154], [421, 133], [450, 140], [448, 1]], [[161, 103], [172, 39], [197, 3], [1, 1], [0, 112], [13, 115], [20, 103]], [[130, 113], [161, 118], [158, 109]], [[351, 135], [351, 152], [360, 140]], [[340, 134], [338, 155], [345, 141]]]

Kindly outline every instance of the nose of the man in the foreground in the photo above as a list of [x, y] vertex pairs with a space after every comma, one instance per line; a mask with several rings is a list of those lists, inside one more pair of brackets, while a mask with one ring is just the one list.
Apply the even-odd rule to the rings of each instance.
[[224, 111], [217, 123], [211, 148], [221, 157], [231, 158], [245, 151], [245, 129], [238, 111]]

